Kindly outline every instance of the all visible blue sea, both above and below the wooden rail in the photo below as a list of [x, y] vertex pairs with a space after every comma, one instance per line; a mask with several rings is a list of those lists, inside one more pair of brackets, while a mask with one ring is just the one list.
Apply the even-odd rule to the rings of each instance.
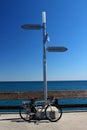
[[[87, 81], [48, 81], [48, 90], [87, 90]], [[0, 82], [0, 91], [38, 91], [43, 90], [42, 81]], [[21, 100], [4, 100], [0, 105], [21, 105]], [[59, 104], [85, 104], [87, 99], [60, 99]], [[79, 108], [81, 109], [81, 108]], [[86, 108], [83, 108], [86, 109]]]

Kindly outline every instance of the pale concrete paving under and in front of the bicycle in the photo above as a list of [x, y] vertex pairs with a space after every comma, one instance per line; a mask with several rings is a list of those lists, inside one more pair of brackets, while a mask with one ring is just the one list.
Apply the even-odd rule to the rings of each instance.
[[0, 130], [87, 130], [87, 112], [63, 113], [57, 122], [23, 121], [19, 114], [0, 114]]

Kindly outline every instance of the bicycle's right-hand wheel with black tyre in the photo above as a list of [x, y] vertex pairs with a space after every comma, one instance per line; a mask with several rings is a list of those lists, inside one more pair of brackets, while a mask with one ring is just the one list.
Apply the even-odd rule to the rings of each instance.
[[51, 122], [58, 121], [62, 116], [62, 109], [55, 105], [48, 105], [45, 109], [46, 118]]

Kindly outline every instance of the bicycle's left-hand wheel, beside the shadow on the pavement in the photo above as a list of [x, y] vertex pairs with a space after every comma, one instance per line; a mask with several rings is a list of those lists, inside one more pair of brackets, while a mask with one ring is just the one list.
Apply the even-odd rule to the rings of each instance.
[[[36, 111], [36, 110], [35, 110]], [[24, 108], [23, 106], [19, 109], [19, 115], [20, 117], [25, 121], [30, 121], [34, 118], [35, 113], [31, 112], [31, 108]]]

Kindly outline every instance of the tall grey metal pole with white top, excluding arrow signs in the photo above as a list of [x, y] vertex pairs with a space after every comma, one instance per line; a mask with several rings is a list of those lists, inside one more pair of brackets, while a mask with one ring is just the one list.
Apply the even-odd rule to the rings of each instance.
[[47, 102], [47, 80], [46, 80], [46, 12], [42, 12], [43, 24], [43, 81], [44, 81], [44, 100]]

